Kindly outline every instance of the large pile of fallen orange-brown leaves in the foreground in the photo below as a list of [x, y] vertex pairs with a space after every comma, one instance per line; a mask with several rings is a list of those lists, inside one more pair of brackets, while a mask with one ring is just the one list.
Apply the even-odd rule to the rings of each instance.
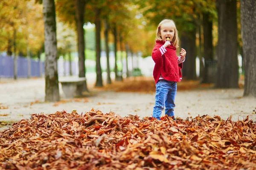
[[256, 124], [248, 117], [173, 121], [91, 110], [33, 114], [0, 132], [0, 169], [256, 169]]

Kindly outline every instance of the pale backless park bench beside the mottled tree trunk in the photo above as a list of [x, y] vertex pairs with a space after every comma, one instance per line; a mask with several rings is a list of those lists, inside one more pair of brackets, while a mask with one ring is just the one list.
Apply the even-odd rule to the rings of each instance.
[[74, 96], [81, 96], [82, 91], [78, 89], [79, 85], [82, 85], [86, 81], [85, 77], [61, 77], [59, 82], [61, 83], [62, 90], [66, 98], [73, 98]]

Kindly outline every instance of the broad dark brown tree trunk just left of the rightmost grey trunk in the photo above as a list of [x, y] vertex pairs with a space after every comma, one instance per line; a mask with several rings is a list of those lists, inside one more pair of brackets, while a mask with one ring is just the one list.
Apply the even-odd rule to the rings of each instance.
[[217, 0], [218, 71], [216, 88], [238, 88], [236, 0]]

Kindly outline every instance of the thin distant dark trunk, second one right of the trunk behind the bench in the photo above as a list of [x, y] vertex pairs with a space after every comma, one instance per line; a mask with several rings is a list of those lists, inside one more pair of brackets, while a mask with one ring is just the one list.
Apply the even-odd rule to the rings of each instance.
[[105, 50], [106, 50], [106, 57], [107, 57], [107, 83], [111, 84], [111, 77], [110, 77], [110, 67], [109, 67], [109, 47], [108, 47], [108, 18], [105, 19], [105, 31], [104, 31], [104, 35], [105, 35]]

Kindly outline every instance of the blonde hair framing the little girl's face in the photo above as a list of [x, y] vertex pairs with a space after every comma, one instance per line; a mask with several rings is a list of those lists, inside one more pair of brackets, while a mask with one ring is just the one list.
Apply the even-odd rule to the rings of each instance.
[[174, 22], [173, 20], [164, 19], [164, 20], [162, 20], [162, 21], [158, 24], [158, 26], [157, 26], [157, 38], [156, 38], [156, 40], [163, 40], [162, 37], [161, 37], [161, 31], [160, 31], [160, 30], [161, 30], [161, 26], [162, 26], [164, 23], [168, 23], [168, 22], [172, 23], [173, 26], [174, 26], [174, 28], [175, 28], [175, 29], [174, 29], [174, 30], [175, 30], [174, 36], [173, 36], [173, 39], [172, 39], [172, 44], [173, 44], [174, 47], [178, 48], [178, 47], [179, 47], [178, 30], [177, 30], [176, 25], [175, 25], [175, 22]]

